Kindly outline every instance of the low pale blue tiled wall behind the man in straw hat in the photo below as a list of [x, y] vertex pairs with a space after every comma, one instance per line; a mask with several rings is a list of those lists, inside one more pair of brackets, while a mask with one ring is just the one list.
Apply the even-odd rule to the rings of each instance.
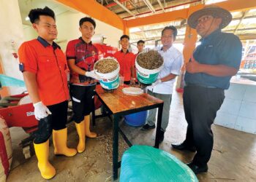
[[256, 134], [256, 82], [231, 83], [214, 123]]

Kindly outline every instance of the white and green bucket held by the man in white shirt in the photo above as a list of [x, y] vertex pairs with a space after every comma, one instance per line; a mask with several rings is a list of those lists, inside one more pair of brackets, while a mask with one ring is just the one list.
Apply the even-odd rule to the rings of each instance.
[[137, 58], [138, 58], [138, 55], [135, 61], [135, 68], [136, 68], [138, 82], [146, 85], [156, 82], [159, 71], [161, 71], [164, 64], [162, 64], [162, 66], [160, 66], [159, 68], [150, 70], [150, 69], [142, 68], [141, 66], [139, 66], [139, 64], [137, 63]]

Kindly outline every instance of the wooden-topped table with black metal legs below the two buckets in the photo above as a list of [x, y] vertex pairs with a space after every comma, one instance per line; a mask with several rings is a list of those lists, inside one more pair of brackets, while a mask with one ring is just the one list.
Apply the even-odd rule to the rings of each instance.
[[[124, 86], [125, 87], [125, 86]], [[129, 146], [129, 142], [124, 132], [118, 126], [121, 116], [146, 111], [152, 108], [158, 108], [157, 115], [157, 132], [154, 147], [159, 148], [159, 132], [162, 123], [162, 108], [164, 101], [154, 98], [151, 95], [143, 93], [141, 95], [126, 95], [121, 91], [123, 87], [118, 87], [113, 92], [105, 92], [100, 85], [96, 87], [96, 95], [102, 104], [108, 109], [109, 114], [113, 114], [113, 179], [118, 178], [118, 167], [121, 162], [118, 162], [118, 132], [124, 137], [124, 140]], [[95, 118], [95, 117], [94, 117]]]

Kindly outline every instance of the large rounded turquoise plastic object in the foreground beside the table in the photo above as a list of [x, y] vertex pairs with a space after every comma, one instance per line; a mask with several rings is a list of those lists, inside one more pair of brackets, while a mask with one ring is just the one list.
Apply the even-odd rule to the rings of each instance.
[[120, 182], [198, 182], [193, 171], [172, 154], [152, 146], [132, 146], [121, 158]]

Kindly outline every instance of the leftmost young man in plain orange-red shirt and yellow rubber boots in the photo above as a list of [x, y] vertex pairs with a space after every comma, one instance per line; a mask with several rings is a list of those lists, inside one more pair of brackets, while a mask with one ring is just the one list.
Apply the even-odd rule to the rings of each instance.
[[34, 139], [38, 168], [42, 178], [50, 179], [56, 174], [48, 162], [51, 132], [54, 154], [67, 157], [77, 154], [75, 149], [67, 148], [67, 60], [61, 47], [53, 41], [58, 34], [53, 10], [31, 9], [29, 19], [38, 37], [20, 46], [20, 71], [34, 103], [34, 116], [39, 120]]

